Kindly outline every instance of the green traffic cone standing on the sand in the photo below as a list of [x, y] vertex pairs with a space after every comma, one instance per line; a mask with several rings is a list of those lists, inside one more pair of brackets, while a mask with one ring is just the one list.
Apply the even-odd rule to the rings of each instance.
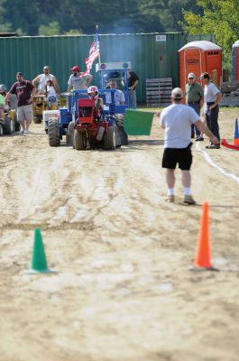
[[32, 264], [30, 270], [24, 273], [51, 273], [48, 268], [46, 255], [44, 251], [44, 245], [41, 238], [41, 229], [35, 228], [34, 232], [34, 244], [32, 249]]

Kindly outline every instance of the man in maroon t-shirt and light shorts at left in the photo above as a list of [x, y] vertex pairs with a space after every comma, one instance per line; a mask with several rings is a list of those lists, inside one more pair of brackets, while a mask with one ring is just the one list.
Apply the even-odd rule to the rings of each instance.
[[11, 94], [15, 94], [17, 103], [17, 120], [22, 125], [21, 133], [28, 134], [29, 126], [32, 123], [32, 99], [36, 93], [36, 88], [29, 80], [23, 79], [23, 73], [16, 73], [17, 81], [12, 85], [11, 89], [5, 96], [7, 100]]

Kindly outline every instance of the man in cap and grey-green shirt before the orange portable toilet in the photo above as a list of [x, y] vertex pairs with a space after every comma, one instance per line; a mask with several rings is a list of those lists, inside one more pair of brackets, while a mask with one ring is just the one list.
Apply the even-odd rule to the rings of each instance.
[[[186, 85], [186, 102], [188, 106], [191, 106], [198, 116], [200, 116], [200, 108], [203, 106], [204, 102], [204, 91], [201, 86], [196, 81], [196, 76], [194, 73], [188, 74], [188, 84]], [[196, 131], [196, 141], [203, 141], [203, 134], [200, 134], [197, 126], [191, 126], [191, 138], [194, 138]]]

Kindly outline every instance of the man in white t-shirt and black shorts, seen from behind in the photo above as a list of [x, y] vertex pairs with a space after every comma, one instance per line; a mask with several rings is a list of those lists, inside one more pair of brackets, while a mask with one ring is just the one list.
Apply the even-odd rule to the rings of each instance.
[[166, 168], [166, 180], [168, 185], [168, 198], [166, 200], [174, 202], [174, 185], [177, 163], [182, 173], [182, 185], [184, 198], [187, 204], [196, 204], [191, 195], [191, 174], [192, 164], [191, 153], [191, 125], [196, 125], [198, 129], [205, 133], [213, 143], [219, 143], [218, 139], [207, 126], [200, 120], [200, 117], [191, 106], [181, 104], [183, 91], [181, 88], [174, 88], [171, 92], [170, 106], [161, 112], [161, 127], [164, 133], [164, 152], [162, 157], [162, 168]]

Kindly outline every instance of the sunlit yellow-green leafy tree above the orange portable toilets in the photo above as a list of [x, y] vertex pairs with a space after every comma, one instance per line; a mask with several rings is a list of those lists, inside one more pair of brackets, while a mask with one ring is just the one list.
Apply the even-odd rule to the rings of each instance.
[[231, 68], [232, 45], [239, 39], [238, 0], [198, 0], [203, 14], [185, 11], [183, 29], [190, 34], [212, 33], [222, 47], [224, 67]]

